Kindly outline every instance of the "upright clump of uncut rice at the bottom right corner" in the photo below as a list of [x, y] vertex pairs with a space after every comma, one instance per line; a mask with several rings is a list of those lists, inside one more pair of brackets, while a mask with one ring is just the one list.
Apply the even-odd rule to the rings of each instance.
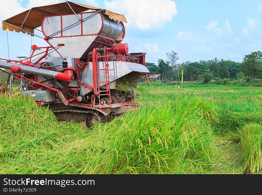
[[250, 123], [242, 130], [241, 145], [245, 153], [244, 172], [262, 174], [262, 126]]

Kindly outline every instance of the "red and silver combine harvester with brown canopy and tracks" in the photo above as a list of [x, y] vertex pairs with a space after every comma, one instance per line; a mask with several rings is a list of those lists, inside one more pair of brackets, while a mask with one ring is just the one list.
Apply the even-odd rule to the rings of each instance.
[[33, 7], [2, 21], [3, 30], [37, 36], [50, 45], [33, 45], [32, 55], [19, 61], [0, 58], [1, 71], [9, 74], [10, 96], [19, 80], [21, 95], [49, 105], [60, 121], [87, 127], [139, 109], [137, 79], [149, 70], [146, 53], [128, 53], [128, 44], [121, 43], [126, 22], [124, 15], [70, 1]]

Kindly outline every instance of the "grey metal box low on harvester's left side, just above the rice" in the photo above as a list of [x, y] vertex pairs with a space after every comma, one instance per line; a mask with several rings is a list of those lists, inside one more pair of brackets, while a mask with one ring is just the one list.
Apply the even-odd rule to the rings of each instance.
[[49, 90], [27, 90], [21, 91], [22, 96], [32, 97], [36, 102], [53, 102], [55, 100], [54, 93]]

